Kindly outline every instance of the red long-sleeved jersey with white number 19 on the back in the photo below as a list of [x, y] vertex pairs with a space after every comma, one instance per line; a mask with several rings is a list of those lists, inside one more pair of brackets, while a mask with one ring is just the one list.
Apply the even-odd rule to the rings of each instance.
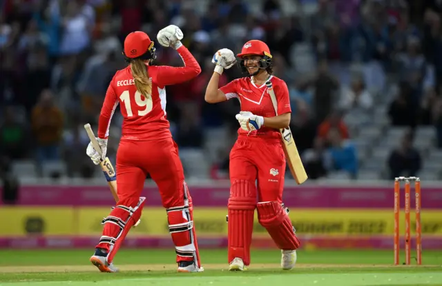
[[124, 116], [121, 140], [156, 140], [171, 137], [166, 119], [166, 85], [189, 81], [201, 72], [200, 65], [184, 45], [177, 49], [184, 67], [149, 65], [152, 94], [146, 99], [135, 88], [131, 67], [119, 70], [113, 76], [99, 114], [98, 137], [106, 139], [115, 108], [120, 103]]

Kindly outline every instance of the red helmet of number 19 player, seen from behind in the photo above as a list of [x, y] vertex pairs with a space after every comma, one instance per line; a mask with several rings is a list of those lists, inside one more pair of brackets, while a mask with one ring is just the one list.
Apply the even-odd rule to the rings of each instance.
[[124, 39], [124, 57], [126, 61], [133, 59], [155, 59], [153, 41], [145, 32], [131, 32]]

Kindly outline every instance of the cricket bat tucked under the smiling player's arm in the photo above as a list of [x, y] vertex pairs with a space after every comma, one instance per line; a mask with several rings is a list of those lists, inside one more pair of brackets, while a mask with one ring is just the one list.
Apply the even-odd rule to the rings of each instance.
[[[278, 101], [276, 101], [276, 95], [273, 91], [273, 85], [270, 81], [265, 83], [269, 91], [271, 103], [273, 103], [273, 108], [275, 109], [276, 116], [278, 116]], [[280, 129], [281, 140], [284, 143], [285, 157], [287, 158], [287, 163], [289, 164], [291, 175], [294, 177], [298, 185], [304, 183], [308, 176], [305, 172], [304, 165], [302, 165], [301, 158], [299, 156], [298, 148], [291, 134], [290, 127], [285, 127]]]

